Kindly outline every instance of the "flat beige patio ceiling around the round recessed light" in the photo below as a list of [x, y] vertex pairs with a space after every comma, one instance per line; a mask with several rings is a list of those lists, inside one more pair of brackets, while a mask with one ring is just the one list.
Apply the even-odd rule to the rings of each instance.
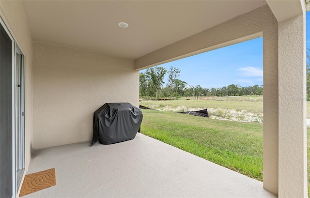
[[[129, 59], [264, 4], [265, 0], [22, 1], [34, 41]], [[119, 22], [129, 27], [120, 28]]]

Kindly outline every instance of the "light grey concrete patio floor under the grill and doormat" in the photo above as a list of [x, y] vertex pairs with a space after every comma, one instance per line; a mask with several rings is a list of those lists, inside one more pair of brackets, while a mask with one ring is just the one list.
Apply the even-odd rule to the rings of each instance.
[[27, 174], [49, 168], [56, 186], [23, 198], [277, 197], [262, 182], [139, 133], [112, 145], [33, 151]]

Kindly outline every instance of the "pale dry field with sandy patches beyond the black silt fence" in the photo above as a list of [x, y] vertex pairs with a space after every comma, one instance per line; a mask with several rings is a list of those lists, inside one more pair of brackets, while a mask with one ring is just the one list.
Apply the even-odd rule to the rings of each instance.
[[263, 96], [199, 97], [140, 101], [140, 105], [168, 112], [208, 109], [211, 118], [263, 123]]

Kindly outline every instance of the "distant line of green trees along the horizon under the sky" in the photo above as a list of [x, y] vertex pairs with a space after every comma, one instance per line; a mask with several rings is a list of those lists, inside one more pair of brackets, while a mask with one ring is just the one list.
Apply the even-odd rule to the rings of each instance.
[[[188, 85], [178, 79], [180, 73], [180, 69], [172, 66], [169, 71], [158, 66], [148, 68], [144, 73], [140, 73], [140, 97], [157, 99], [181, 96], [263, 95], [263, 85], [240, 87], [240, 85], [231, 84], [221, 88], [202, 88], [200, 85]], [[168, 74], [168, 81], [164, 82], [166, 74]]]

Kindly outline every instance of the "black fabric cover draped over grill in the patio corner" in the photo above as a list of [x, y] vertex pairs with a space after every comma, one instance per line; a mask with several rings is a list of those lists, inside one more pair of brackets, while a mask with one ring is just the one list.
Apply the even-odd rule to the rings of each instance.
[[93, 113], [93, 142], [114, 144], [140, 132], [142, 112], [130, 103], [106, 103]]

